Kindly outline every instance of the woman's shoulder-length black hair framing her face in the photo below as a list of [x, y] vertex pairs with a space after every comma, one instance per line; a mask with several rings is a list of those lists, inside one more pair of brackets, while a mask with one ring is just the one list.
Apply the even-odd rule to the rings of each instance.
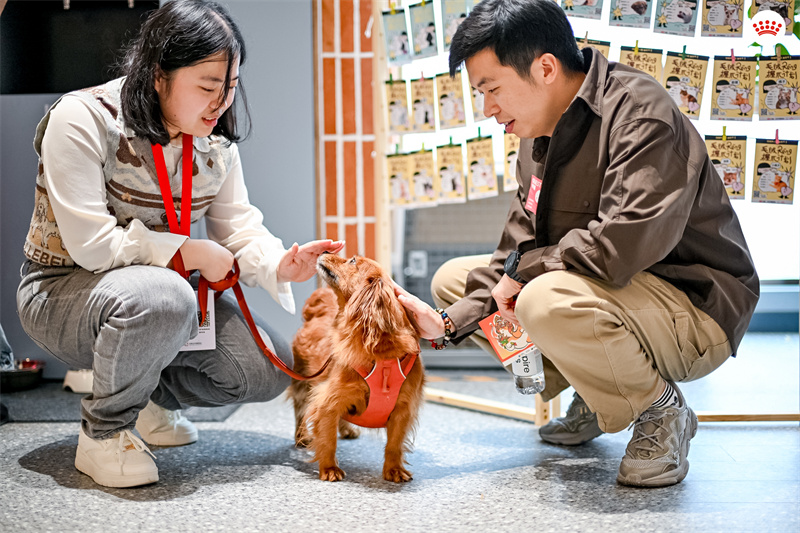
[[[242, 34], [227, 8], [205, 0], [172, 0], [153, 11], [142, 24], [139, 35], [128, 45], [120, 68], [121, 74], [126, 76], [121, 95], [125, 124], [153, 144], [169, 143], [155, 89], [156, 75], [169, 76], [179, 68], [195, 65], [219, 53], [223, 53], [228, 62], [222, 103], [230, 91], [231, 66], [237, 57], [239, 64], [243, 64], [246, 55]], [[243, 139], [250, 129], [241, 79], [237, 92], [233, 105], [225, 110], [211, 132], [229, 142]], [[236, 120], [239, 95], [246, 118], [244, 136], [239, 135]]]

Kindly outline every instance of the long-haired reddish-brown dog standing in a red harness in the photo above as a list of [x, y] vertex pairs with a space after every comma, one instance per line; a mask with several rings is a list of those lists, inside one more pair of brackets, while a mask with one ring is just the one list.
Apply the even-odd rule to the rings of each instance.
[[[359, 430], [347, 419], [364, 427], [384, 423], [383, 478], [408, 481], [404, 456], [425, 380], [417, 329], [375, 261], [323, 254], [317, 270], [328, 287], [314, 291], [303, 307], [304, 323], [292, 345], [294, 369], [311, 375], [328, 357], [331, 362], [318, 378], [292, 380], [295, 445], [314, 452], [320, 479], [339, 481], [345, 474], [336, 460], [337, 430], [343, 438], [356, 438]], [[392, 396], [397, 400], [386, 419], [381, 406]]]

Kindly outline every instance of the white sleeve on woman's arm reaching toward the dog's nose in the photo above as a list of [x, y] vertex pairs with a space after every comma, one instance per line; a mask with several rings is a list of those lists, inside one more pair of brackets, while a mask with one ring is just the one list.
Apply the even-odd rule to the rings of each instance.
[[280, 239], [264, 227], [264, 215], [250, 203], [244, 183], [239, 148], [231, 145], [228, 175], [205, 214], [206, 231], [236, 256], [239, 279], [252, 287], [256, 284], [289, 313], [295, 313], [290, 283], [278, 283], [278, 263], [286, 249]]

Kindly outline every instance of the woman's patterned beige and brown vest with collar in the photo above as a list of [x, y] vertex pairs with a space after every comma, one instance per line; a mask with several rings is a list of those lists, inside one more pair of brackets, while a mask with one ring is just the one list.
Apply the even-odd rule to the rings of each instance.
[[[117, 219], [118, 226], [127, 226], [139, 219], [154, 231], [168, 231], [164, 202], [158, 186], [153, 152], [147, 139], [136, 137], [125, 127], [120, 109], [120, 89], [124, 78], [104, 85], [69, 93], [77, 96], [100, 112], [106, 126], [106, 161], [103, 175], [106, 186], [108, 212]], [[63, 97], [62, 97], [63, 98]], [[39, 154], [39, 171], [36, 176], [36, 195], [33, 217], [25, 239], [25, 256], [33, 262], [48, 266], [72, 266], [74, 261], [64, 248], [58, 221], [55, 219], [44, 180], [41, 159], [44, 137], [50, 112], [61, 101], [59, 98], [36, 128], [33, 141]], [[219, 192], [231, 165], [231, 150], [218, 136], [194, 139], [192, 165], [192, 222], [202, 218]], [[181, 165], [170, 179], [175, 209], [180, 213]]]

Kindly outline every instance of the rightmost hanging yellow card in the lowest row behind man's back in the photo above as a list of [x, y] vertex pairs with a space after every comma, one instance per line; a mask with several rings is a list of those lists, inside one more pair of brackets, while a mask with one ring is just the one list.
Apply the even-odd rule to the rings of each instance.
[[753, 202], [791, 204], [796, 166], [797, 141], [756, 139]]

